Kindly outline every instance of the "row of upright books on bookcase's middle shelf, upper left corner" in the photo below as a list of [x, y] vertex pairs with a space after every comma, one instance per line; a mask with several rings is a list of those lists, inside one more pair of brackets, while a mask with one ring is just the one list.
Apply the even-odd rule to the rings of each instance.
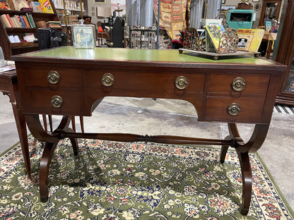
[[3, 14], [0, 18], [5, 27], [36, 27], [33, 16], [29, 13], [12, 17], [8, 14]]

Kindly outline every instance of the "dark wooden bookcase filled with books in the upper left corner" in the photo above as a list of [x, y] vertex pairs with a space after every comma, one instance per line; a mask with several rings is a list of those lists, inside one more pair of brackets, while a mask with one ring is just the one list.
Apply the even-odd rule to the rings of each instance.
[[52, 1], [0, 1], [3, 3], [0, 5], [0, 47], [4, 50], [5, 59], [37, 50], [37, 43], [34, 43], [37, 27], [46, 27], [49, 21], [58, 21]]

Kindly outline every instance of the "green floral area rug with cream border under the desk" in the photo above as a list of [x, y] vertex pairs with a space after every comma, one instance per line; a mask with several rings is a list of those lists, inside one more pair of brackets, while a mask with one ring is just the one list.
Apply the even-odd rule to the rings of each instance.
[[40, 202], [44, 145], [31, 136], [32, 180], [20, 145], [0, 157], [0, 219], [293, 219], [256, 154], [253, 195], [240, 214], [242, 177], [235, 151], [141, 142], [62, 140], [49, 171], [49, 200]]

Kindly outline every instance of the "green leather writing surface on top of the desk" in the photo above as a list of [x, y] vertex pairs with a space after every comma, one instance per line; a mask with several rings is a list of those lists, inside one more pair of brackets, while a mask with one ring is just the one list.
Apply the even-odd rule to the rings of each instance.
[[[259, 59], [254, 56], [240, 55], [220, 58], [217, 61], [210, 57], [204, 57], [178, 50], [150, 50], [150, 49], [124, 49], [96, 47], [94, 49], [75, 49], [74, 47], [57, 47], [43, 51], [34, 51], [28, 54], [13, 56], [13, 60], [20, 60], [18, 57], [28, 58], [57, 58], [57, 59], [78, 59], [78, 60], [99, 60], [99, 61], [139, 61], [139, 62], [173, 62], [173, 63], [235, 63], [248, 65], [273, 65], [275, 62]], [[278, 63], [276, 63], [278, 64]]]

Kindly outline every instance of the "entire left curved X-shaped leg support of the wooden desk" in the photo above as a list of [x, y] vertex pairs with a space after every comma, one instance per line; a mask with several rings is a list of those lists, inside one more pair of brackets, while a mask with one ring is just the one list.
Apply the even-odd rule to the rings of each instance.
[[[47, 202], [48, 200], [48, 174], [49, 174], [49, 166], [52, 159], [52, 155], [54, 154], [54, 149], [57, 146], [59, 140], [62, 139], [59, 133], [73, 132], [71, 128], [69, 128], [69, 123], [71, 122], [70, 116], [64, 116], [56, 130], [49, 135], [45, 132], [44, 128], [40, 123], [40, 119], [38, 115], [35, 114], [26, 114], [25, 120], [28, 123], [28, 128], [30, 128], [30, 132], [34, 135], [37, 140], [41, 142], [46, 142], [45, 148], [42, 154], [42, 158], [40, 161], [40, 171], [39, 171], [39, 185], [40, 185], [40, 199], [42, 202]], [[33, 125], [33, 126], [31, 126]], [[76, 138], [69, 138], [71, 140], [71, 145], [73, 146], [74, 155], [78, 154], [78, 142]]]

